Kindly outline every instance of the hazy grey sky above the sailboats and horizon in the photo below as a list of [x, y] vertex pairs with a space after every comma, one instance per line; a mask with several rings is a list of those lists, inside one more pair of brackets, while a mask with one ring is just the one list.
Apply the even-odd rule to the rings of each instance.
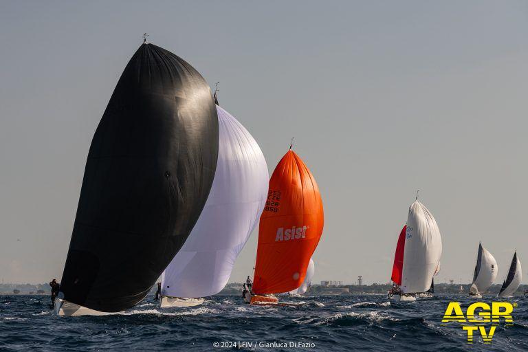
[[[270, 174], [296, 138], [325, 206], [315, 281], [389, 281], [417, 188], [439, 282], [470, 281], [478, 241], [497, 283], [515, 249], [528, 268], [526, 1], [0, 0], [3, 281], [60, 278], [91, 137], [144, 32], [221, 83]], [[256, 231], [231, 281], [255, 253]]]

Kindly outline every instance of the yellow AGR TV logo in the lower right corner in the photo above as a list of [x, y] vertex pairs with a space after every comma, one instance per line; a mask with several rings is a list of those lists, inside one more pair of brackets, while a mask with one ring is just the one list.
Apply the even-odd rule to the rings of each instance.
[[[485, 344], [491, 344], [496, 327], [503, 322], [505, 326], [513, 325], [514, 318], [511, 313], [517, 303], [492, 302], [491, 307], [484, 302], [476, 302], [467, 307], [465, 316], [459, 302], [450, 302], [445, 309], [442, 322], [459, 322], [464, 331], [467, 332], [467, 343], [473, 343], [473, 337], [480, 333]], [[486, 331], [486, 325], [492, 325]], [[442, 324], [445, 326], [446, 324]]]

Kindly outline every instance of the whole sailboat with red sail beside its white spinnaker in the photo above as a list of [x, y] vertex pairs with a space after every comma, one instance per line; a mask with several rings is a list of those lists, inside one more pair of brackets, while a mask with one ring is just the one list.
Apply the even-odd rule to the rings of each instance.
[[427, 292], [433, 285], [432, 277], [440, 270], [441, 255], [442, 239], [437, 221], [417, 197], [398, 237], [389, 298], [413, 301], [417, 294]]

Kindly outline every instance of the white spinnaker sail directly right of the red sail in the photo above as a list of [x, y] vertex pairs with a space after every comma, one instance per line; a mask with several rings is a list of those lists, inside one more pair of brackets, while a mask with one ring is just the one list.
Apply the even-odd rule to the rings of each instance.
[[442, 239], [437, 221], [431, 212], [416, 200], [409, 208], [401, 270], [401, 289], [404, 293], [426, 292], [432, 276], [439, 268]]

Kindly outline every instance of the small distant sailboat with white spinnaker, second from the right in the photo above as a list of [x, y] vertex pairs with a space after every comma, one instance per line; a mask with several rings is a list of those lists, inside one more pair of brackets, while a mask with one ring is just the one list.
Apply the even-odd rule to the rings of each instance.
[[470, 296], [482, 298], [482, 294], [489, 289], [498, 274], [497, 261], [485, 248], [478, 243], [473, 283], [470, 287]]

